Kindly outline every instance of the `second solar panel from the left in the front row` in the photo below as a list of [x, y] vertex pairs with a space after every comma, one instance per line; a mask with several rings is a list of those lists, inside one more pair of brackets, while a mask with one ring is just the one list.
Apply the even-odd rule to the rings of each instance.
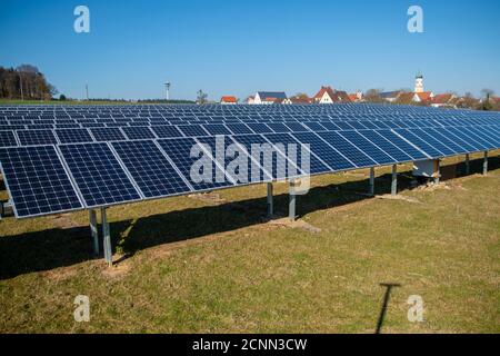
[[87, 207], [141, 198], [107, 144], [61, 145], [59, 148]]

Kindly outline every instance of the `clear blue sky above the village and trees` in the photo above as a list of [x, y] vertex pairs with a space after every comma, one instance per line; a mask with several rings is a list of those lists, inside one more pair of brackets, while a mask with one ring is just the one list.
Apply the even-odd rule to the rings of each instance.
[[[90, 9], [76, 33], [73, 9]], [[407, 30], [410, 6], [424, 32]], [[257, 90], [313, 95], [412, 88], [500, 92], [500, 1], [0, 0], [0, 66], [32, 63], [60, 92], [218, 99]]]

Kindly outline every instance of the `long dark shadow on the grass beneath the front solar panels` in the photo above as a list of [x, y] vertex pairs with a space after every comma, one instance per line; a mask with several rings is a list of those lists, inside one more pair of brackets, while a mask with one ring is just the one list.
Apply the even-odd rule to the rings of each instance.
[[[471, 174], [482, 170], [482, 160], [470, 164]], [[500, 168], [500, 157], [490, 158], [490, 167]], [[458, 171], [464, 171], [463, 164], [457, 165], [457, 168]], [[410, 189], [412, 179], [411, 172], [401, 172], [398, 177], [399, 189]], [[378, 177], [376, 194], [389, 192], [390, 184], [390, 174]], [[303, 216], [368, 199], [369, 197], [360, 195], [367, 190], [368, 179], [316, 187], [308, 195], [298, 197], [297, 212]], [[286, 194], [274, 196], [277, 216], [288, 214], [288, 199]], [[132, 256], [149, 247], [260, 224], [266, 219], [266, 206], [267, 198], [261, 197], [152, 215], [138, 220], [122, 220], [110, 225], [111, 238], [113, 246], [118, 244], [126, 256]], [[71, 266], [96, 258], [89, 227], [54, 228], [2, 237], [0, 256], [0, 279]]]

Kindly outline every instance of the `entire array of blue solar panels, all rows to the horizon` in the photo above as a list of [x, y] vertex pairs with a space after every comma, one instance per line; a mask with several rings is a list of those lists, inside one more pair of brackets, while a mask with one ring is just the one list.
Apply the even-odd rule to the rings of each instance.
[[[252, 145], [263, 144], [272, 148], [271, 160], [252, 155]], [[19, 218], [241, 186], [249, 176], [264, 182], [498, 148], [498, 112], [381, 105], [0, 106], [0, 164]], [[308, 169], [301, 150], [310, 154]], [[297, 160], [289, 159], [293, 154]], [[203, 156], [212, 169], [200, 164]], [[248, 166], [231, 169], [240, 156]]]

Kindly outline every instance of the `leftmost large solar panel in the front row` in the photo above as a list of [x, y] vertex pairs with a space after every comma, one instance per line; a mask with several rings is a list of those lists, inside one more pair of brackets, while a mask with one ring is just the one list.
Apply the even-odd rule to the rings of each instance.
[[1, 148], [0, 162], [17, 217], [83, 208], [52, 146]]

